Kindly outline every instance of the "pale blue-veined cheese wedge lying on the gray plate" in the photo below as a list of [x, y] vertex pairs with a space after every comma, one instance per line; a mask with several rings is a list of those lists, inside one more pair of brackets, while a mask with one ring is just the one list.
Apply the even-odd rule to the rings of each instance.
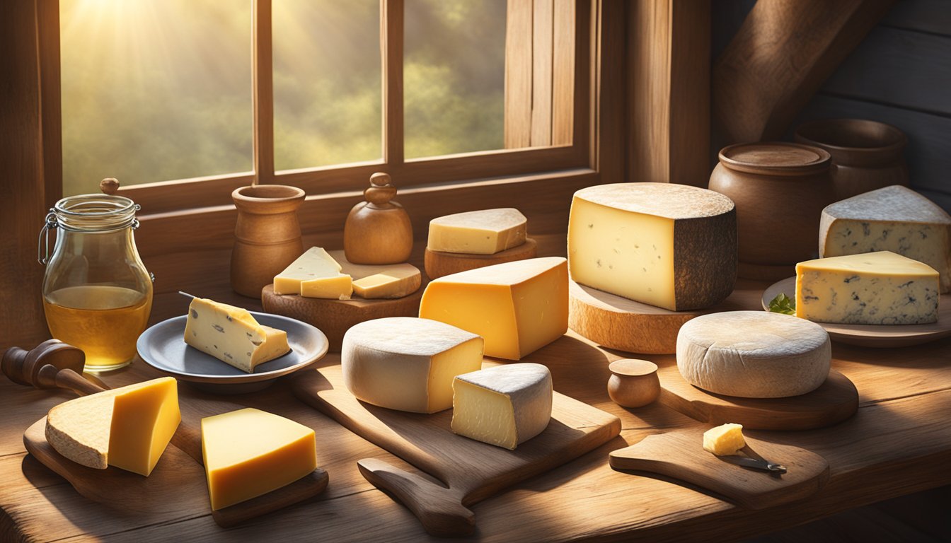
[[204, 298], [188, 305], [184, 342], [247, 373], [291, 350], [287, 332], [258, 324], [246, 309]]

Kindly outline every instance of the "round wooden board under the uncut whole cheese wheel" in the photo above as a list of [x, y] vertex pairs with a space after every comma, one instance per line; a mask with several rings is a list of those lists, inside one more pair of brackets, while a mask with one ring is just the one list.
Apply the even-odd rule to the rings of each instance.
[[660, 368], [660, 402], [712, 425], [735, 422], [749, 430], [811, 430], [855, 415], [859, 392], [835, 370], [816, 390], [789, 398], [736, 398], [709, 393], [687, 382], [675, 364]]

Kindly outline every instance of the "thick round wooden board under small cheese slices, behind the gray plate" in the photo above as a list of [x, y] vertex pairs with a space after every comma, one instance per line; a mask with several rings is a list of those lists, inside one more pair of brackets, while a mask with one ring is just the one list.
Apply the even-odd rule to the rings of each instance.
[[330, 351], [340, 352], [343, 334], [351, 326], [365, 320], [384, 317], [418, 317], [419, 301], [426, 285], [416, 292], [395, 300], [323, 300], [303, 298], [296, 294], [274, 294], [274, 285], [262, 288], [264, 311], [302, 320], [320, 328], [330, 341]]

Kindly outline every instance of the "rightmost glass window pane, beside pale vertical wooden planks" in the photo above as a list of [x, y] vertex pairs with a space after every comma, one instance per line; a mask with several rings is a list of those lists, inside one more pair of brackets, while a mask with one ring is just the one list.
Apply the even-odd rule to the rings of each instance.
[[506, 4], [506, 0], [405, 3], [407, 158], [503, 147]]

